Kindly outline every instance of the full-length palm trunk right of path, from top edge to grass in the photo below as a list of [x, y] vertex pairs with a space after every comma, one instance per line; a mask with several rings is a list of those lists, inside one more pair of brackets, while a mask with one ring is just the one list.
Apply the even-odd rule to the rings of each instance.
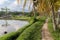
[[52, 19], [53, 19], [53, 27], [54, 27], [54, 31], [58, 29], [57, 27], [57, 24], [56, 24], [56, 17], [55, 17], [55, 3], [57, 2], [58, 0], [50, 0], [50, 3], [51, 3], [51, 11], [52, 11]]

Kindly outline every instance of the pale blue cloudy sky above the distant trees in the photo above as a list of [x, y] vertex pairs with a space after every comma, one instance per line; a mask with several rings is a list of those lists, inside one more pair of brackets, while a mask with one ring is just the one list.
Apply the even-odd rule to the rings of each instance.
[[[16, 0], [0, 0], [0, 11], [1, 8], [9, 8], [10, 11], [22, 11], [23, 9], [23, 2], [24, 0], [20, 0], [20, 4], [17, 4]], [[29, 4], [30, 4], [30, 0], [27, 0], [27, 4], [25, 7], [25, 12], [29, 12]], [[32, 10], [32, 5], [30, 6], [30, 11]]]

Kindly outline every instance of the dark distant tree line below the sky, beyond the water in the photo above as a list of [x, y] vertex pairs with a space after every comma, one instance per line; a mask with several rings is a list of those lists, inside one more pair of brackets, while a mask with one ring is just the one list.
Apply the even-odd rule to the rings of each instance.
[[[31, 12], [24, 12], [24, 15], [23, 15], [23, 12], [17, 12], [17, 11], [14, 11], [14, 12], [11, 12], [11, 11], [9, 11], [6, 15], [20, 15], [20, 16], [33, 16], [34, 14], [33, 14], [33, 12], [31, 11]], [[36, 13], [36, 15], [39, 15], [39, 13]], [[1, 16], [5, 16], [5, 11], [0, 11], [0, 17]]]

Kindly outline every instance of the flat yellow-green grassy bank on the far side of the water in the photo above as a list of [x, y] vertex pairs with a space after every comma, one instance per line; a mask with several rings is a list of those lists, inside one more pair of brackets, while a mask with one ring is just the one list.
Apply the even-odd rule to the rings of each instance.
[[23, 20], [23, 21], [30, 21], [31, 17], [27, 16], [11, 16], [6, 18], [0, 18], [0, 20]]

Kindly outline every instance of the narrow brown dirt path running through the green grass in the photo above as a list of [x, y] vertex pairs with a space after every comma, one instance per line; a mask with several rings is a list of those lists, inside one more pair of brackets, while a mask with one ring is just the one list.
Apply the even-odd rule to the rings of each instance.
[[42, 27], [42, 40], [53, 40], [53, 38], [48, 30], [48, 19], [46, 19], [46, 22]]

